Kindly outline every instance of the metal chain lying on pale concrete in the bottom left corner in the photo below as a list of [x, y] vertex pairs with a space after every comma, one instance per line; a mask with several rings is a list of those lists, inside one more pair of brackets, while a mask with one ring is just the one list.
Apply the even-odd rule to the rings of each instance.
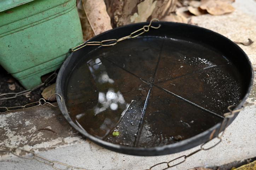
[[[23, 151], [23, 153], [25, 155], [24, 156], [19, 155], [17, 153], [17, 150], [20, 150], [21, 152]], [[8, 147], [8, 146], [5, 146], [4, 144], [0, 145], [0, 152], [10, 152], [15, 156], [18, 156], [20, 158], [25, 158], [25, 159], [36, 159], [39, 162], [45, 163], [47, 165], [51, 165], [52, 168], [57, 169], [57, 170], [61, 170], [61, 169], [59, 169], [59, 166], [65, 167], [65, 168], [62, 168], [63, 170], [66, 169], [66, 168], [71, 168], [71, 170], [74, 170], [74, 169], [86, 170], [86, 169], [81, 169], [81, 168], [75, 168], [73, 166], [70, 166], [70, 165], [67, 165], [67, 164], [64, 164], [64, 163], [61, 163], [61, 162], [58, 162], [58, 161], [51, 161], [49, 159], [46, 159], [46, 158], [43, 158], [43, 157], [37, 155], [35, 152], [24, 150], [22, 148], [17, 148], [17, 147], [13, 147], [13, 148]]]

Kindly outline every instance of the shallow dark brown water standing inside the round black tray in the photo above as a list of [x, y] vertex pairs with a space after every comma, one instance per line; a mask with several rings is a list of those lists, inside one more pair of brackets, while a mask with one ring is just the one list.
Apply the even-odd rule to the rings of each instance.
[[204, 132], [242, 98], [242, 80], [218, 51], [141, 37], [85, 55], [67, 109], [89, 134], [131, 147], [163, 146]]

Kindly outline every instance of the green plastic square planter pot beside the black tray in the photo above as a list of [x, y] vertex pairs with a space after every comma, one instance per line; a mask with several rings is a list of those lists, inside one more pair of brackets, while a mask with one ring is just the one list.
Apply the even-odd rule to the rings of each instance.
[[0, 64], [26, 89], [81, 43], [76, 0], [0, 1]]

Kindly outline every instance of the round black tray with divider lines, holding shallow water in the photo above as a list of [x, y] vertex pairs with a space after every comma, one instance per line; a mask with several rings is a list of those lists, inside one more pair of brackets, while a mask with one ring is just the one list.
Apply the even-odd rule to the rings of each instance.
[[[89, 42], [122, 38], [148, 24], [121, 26]], [[228, 106], [242, 108], [254, 77], [244, 51], [198, 26], [152, 23], [159, 24], [115, 45], [87, 45], [64, 62], [59, 108], [87, 139], [125, 154], [171, 154], [216, 136]]]

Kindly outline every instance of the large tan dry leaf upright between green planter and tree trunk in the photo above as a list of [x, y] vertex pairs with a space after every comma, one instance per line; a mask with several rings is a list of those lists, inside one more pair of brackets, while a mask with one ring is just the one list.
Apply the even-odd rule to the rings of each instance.
[[95, 35], [112, 29], [104, 0], [82, 0], [82, 2]]

